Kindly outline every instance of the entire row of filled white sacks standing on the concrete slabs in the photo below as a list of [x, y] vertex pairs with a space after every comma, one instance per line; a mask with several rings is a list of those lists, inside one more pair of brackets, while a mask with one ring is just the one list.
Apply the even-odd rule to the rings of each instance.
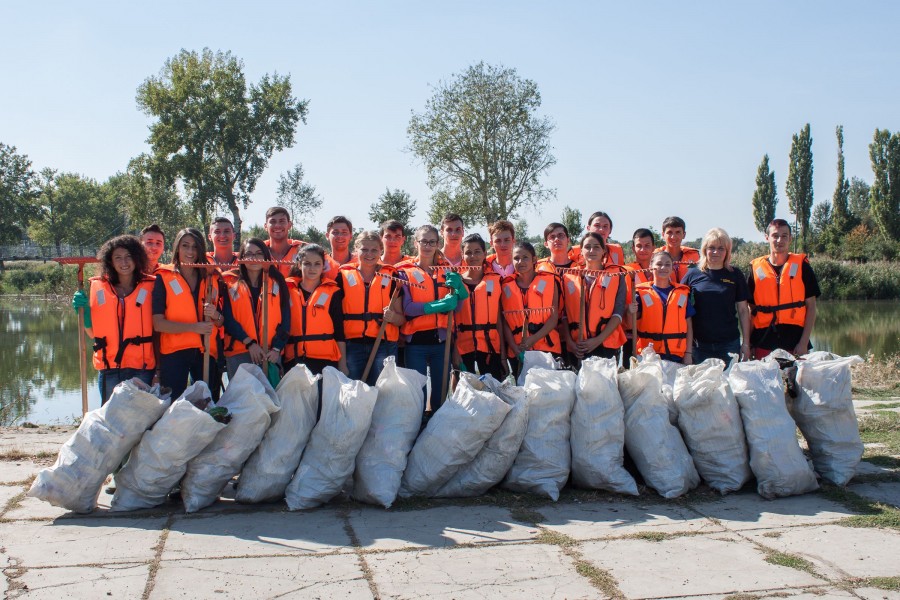
[[[567, 484], [635, 496], [643, 483], [676, 498], [701, 481], [727, 494], [755, 479], [764, 498], [803, 494], [819, 478], [845, 485], [862, 457], [850, 391], [859, 361], [776, 352], [726, 370], [647, 349], [627, 371], [588, 358], [575, 373], [529, 352], [521, 385], [462, 373], [424, 429], [426, 378], [393, 358], [374, 387], [298, 365], [273, 389], [259, 367], [242, 365], [218, 403], [202, 382], [172, 402], [135, 379], [85, 416], [28, 495], [90, 512], [112, 472], [114, 511], [158, 506], [180, 490], [195, 512], [236, 477], [237, 502], [284, 500], [290, 510], [342, 493], [390, 508], [398, 497], [495, 486], [555, 501]], [[786, 363], [796, 373], [790, 393]]]

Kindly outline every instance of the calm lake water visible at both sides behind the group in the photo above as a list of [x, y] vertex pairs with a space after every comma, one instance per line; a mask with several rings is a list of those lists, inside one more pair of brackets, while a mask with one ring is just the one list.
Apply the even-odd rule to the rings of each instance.
[[[0, 425], [79, 418], [75, 312], [40, 298], [2, 299], [0, 331]], [[812, 342], [840, 355], [900, 352], [900, 303], [820, 302]], [[97, 373], [88, 359], [88, 407], [99, 406]]]

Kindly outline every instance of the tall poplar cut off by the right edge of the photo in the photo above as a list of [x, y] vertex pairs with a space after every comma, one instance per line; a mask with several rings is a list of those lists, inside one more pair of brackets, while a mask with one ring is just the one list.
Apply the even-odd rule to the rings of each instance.
[[876, 129], [869, 144], [875, 180], [869, 192], [872, 217], [881, 235], [900, 237], [900, 133]]

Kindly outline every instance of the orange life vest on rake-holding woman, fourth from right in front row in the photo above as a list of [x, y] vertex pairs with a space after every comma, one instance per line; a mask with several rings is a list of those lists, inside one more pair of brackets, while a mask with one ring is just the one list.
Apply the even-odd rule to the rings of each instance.
[[[616, 294], [620, 285], [625, 285], [623, 277], [616, 273], [625, 271], [622, 267], [610, 266], [605, 269], [609, 275], [600, 275], [594, 278], [593, 284], [587, 291], [584, 300], [584, 324], [588, 338], [600, 335], [600, 332], [613, 316], [616, 305]], [[572, 337], [578, 339], [580, 330], [579, 317], [581, 315], [581, 294], [584, 279], [575, 273], [566, 273], [563, 276], [563, 297], [565, 299], [566, 314], [569, 320], [569, 330]], [[620, 317], [622, 315], [619, 315]], [[625, 332], [621, 326], [611, 333], [603, 346], [606, 348], [621, 348], [625, 343]]]

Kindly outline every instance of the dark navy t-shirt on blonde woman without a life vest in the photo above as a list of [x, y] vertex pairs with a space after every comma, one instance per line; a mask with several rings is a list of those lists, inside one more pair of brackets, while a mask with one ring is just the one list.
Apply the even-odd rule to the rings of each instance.
[[740, 337], [735, 304], [749, 299], [747, 280], [740, 269], [689, 269], [681, 283], [691, 288], [697, 310], [693, 320], [695, 340], [715, 344]]

